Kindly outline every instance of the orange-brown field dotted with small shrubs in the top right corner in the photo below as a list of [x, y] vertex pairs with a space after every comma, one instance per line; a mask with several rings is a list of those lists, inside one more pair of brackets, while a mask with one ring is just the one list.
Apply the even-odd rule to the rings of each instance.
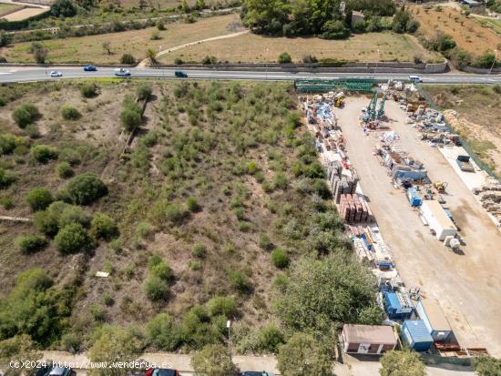
[[438, 31], [453, 36], [457, 46], [479, 56], [499, 48], [501, 39], [491, 29], [483, 27], [473, 16], [466, 17], [456, 9], [450, 7], [437, 7], [425, 9], [423, 6], [414, 5], [410, 8], [414, 17], [421, 24], [419, 33], [426, 38], [436, 36]]

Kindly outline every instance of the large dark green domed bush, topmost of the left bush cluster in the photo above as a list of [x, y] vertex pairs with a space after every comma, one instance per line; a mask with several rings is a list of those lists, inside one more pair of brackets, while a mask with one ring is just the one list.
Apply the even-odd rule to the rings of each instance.
[[96, 174], [85, 172], [66, 183], [62, 196], [77, 205], [88, 205], [107, 194], [107, 186]]

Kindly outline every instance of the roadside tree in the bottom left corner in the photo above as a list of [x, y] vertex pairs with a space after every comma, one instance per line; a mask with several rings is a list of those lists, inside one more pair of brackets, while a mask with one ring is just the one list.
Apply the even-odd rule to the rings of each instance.
[[24, 367], [6, 369], [5, 376], [21, 376], [33, 371], [29, 361], [38, 361], [42, 353], [36, 351], [36, 343], [27, 334], [16, 335], [0, 341], [0, 364], [9, 365], [11, 361], [20, 361]]

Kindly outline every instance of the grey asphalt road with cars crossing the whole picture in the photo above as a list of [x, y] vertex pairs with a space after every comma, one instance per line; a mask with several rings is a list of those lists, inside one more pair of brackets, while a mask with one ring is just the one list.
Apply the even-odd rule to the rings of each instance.
[[[57, 70], [62, 77], [51, 77], [50, 72]], [[131, 77], [134, 78], [174, 78], [175, 69], [151, 69], [131, 68]], [[237, 71], [218, 69], [183, 69], [189, 78], [200, 79], [247, 79], [247, 80], [293, 80], [295, 78], [346, 78], [346, 77], [375, 77], [381, 80], [390, 78], [397, 80], [408, 79], [404, 73], [309, 73], [309, 72], [263, 72], [263, 71]], [[113, 77], [115, 68], [97, 68], [97, 72], [84, 72], [81, 67], [20, 67], [1, 66], [0, 83], [26, 82], [40, 80], [57, 80], [64, 78], [89, 78], [89, 77]], [[419, 75], [425, 84], [501, 84], [501, 75], [471, 75], [471, 74], [435, 74]]]

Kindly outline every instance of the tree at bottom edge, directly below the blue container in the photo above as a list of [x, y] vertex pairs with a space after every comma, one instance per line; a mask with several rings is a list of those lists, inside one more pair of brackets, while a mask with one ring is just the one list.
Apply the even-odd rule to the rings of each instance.
[[381, 376], [424, 376], [424, 364], [417, 352], [387, 351], [381, 358]]

